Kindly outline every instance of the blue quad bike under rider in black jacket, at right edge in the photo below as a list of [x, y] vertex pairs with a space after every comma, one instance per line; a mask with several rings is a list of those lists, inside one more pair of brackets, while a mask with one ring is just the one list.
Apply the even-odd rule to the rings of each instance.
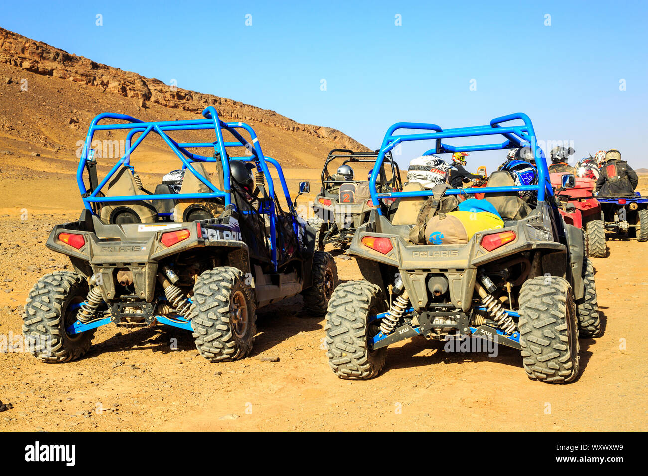
[[597, 196], [605, 230], [622, 238], [648, 241], [648, 197], [639, 192]]

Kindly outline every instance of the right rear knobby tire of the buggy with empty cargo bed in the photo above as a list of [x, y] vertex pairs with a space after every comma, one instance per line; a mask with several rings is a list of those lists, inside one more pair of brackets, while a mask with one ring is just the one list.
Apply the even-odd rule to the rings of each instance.
[[218, 362], [242, 359], [252, 350], [257, 314], [252, 289], [238, 268], [205, 271], [194, 285], [189, 319], [198, 352]]

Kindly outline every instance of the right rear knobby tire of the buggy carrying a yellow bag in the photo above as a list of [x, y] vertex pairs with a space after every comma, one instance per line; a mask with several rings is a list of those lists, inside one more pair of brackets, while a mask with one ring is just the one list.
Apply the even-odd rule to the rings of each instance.
[[568, 383], [579, 370], [572, 286], [562, 277], [536, 277], [520, 290], [520, 345], [531, 380]]

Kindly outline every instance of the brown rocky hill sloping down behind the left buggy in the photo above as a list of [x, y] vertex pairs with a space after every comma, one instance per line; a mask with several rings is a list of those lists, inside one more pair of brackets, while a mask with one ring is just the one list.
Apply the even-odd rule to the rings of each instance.
[[[197, 117], [206, 106], [215, 106], [225, 120], [249, 122], [266, 154], [289, 165], [316, 166], [336, 147], [367, 150], [332, 128], [172, 87], [0, 28], [0, 141], [13, 139], [54, 153], [73, 148], [70, 135], [74, 142], [83, 139], [89, 120], [103, 111], [172, 120]], [[10, 152], [12, 145], [20, 144], [9, 144]]]

